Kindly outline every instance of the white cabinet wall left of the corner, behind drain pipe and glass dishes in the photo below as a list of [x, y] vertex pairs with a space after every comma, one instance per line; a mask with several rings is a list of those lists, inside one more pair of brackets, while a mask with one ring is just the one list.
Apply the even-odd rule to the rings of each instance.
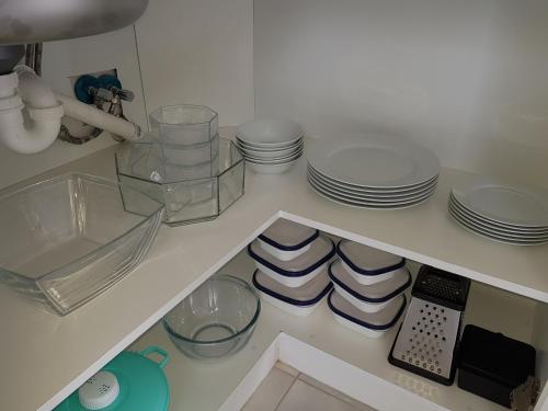
[[[133, 27], [83, 39], [46, 43], [44, 77], [71, 93], [73, 75], [117, 68], [136, 93], [126, 116], [147, 126], [146, 113], [176, 103], [205, 104], [221, 125], [253, 118], [253, 0], [151, 0]], [[139, 61], [146, 103], [142, 98]], [[21, 156], [0, 146], [0, 187], [112, 145], [110, 136]]]

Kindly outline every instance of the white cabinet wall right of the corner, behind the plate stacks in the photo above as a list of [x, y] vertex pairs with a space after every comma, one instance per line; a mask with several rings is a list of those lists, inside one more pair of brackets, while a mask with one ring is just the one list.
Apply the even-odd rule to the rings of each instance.
[[540, 0], [255, 0], [255, 114], [548, 184], [547, 21]]

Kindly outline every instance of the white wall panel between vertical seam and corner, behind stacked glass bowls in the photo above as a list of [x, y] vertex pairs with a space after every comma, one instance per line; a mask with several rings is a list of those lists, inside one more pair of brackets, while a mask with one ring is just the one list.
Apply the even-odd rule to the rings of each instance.
[[253, 117], [253, 1], [151, 0], [137, 22], [147, 110], [193, 103]]

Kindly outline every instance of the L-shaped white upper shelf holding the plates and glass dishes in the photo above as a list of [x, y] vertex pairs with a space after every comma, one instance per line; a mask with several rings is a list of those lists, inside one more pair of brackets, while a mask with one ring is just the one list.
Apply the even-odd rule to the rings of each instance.
[[[114, 176], [113, 149], [44, 175], [77, 170]], [[152, 327], [248, 242], [283, 216], [321, 230], [548, 301], [548, 247], [504, 246], [449, 219], [453, 183], [471, 179], [444, 169], [436, 194], [421, 206], [380, 212], [344, 207], [307, 185], [306, 161], [282, 175], [249, 171], [246, 195], [220, 218], [162, 227], [146, 261], [105, 294], [58, 318], [0, 287], [2, 408], [48, 410]], [[3, 377], [7, 378], [7, 377]], [[26, 396], [19, 388], [26, 387]]]

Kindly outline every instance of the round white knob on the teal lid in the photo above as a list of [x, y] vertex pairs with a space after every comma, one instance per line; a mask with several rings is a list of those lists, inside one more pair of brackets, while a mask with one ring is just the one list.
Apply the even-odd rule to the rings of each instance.
[[116, 376], [110, 372], [99, 372], [78, 390], [80, 404], [88, 410], [101, 410], [112, 404], [119, 393]]

